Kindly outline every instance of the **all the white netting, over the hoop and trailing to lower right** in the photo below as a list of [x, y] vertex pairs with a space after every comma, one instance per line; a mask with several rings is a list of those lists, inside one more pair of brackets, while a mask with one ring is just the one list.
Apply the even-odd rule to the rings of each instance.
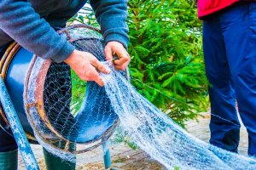
[[[83, 82], [83, 89], [73, 89], [68, 65], [33, 59], [26, 78], [25, 107], [33, 132], [46, 150], [76, 161], [79, 154], [108, 140], [120, 123], [140, 149], [167, 169], [256, 169], [253, 158], [195, 139], [138, 94], [127, 74], [105, 61], [99, 32], [73, 27], [60, 33], [112, 71], [100, 74], [104, 87]], [[82, 97], [73, 95], [78, 90]]]

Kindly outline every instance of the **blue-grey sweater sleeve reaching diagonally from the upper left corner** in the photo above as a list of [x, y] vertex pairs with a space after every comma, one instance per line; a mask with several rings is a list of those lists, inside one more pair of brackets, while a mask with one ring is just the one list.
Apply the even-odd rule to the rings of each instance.
[[22, 47], [44, 59], [61, 62], [74, 47], [40, 18], [32, 4], [21, 0], [1, 0], [0, 28]]

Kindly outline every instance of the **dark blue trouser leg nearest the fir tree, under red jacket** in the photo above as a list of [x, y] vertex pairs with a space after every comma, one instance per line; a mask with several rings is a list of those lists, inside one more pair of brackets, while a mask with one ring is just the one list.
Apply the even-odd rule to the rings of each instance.
[[218, 20], [203, 24], [206, 73], [211, 101], [210, 143], [225, 150], [237, 151], [240, 124], [236, 114], [236, 96]]

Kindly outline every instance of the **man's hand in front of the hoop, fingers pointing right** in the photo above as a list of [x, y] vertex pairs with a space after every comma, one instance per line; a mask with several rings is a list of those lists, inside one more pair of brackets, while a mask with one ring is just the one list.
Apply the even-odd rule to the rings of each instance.
[[90, 53], [74, 50], [67, 59], [64, 60], [67, 65], [77, 73], [81, 80], [95, 81], [100, 86], [104, 83], [99, 76], [98, 71], [108, 74], [110, 69], [102, 65], [102, 63], [96, 59], [96, 57]]

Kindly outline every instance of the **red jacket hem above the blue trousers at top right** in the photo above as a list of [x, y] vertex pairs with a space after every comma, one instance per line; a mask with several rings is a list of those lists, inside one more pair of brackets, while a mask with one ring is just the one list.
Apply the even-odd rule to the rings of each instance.
[[198, 18], [226, 8], [239, 0], [198, 0]]

